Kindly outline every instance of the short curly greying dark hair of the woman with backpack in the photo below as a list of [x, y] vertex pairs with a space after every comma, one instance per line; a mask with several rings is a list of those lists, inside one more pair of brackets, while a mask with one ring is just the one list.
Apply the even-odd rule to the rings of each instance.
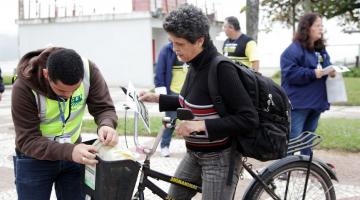
[[189, 4], [181, 5], [170, 12], [165, 18], [163, 28], [176, 37], [186, 39], [194, 44], [204, 37], [204, 45], [210, 41], [210, 24], [204, 13], [197, 7]]

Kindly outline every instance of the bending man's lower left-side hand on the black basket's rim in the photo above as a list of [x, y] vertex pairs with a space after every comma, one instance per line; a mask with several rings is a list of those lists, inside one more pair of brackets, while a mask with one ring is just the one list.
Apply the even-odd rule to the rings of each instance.
[[76, 163], [85, 165], [95, 165], [98, 161], [95, 159], [96, 148], [92, 145], [77, 144], [72, 152], [72, 159]]

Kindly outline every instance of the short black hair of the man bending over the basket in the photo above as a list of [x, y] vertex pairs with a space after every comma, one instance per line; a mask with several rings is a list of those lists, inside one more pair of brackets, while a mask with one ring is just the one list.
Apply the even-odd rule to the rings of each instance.
[[75, 85], [84, 78], [84, 64], [72, 49], [52, 52], [46, 62], [51, 81], [60, 80], [65, 85]]

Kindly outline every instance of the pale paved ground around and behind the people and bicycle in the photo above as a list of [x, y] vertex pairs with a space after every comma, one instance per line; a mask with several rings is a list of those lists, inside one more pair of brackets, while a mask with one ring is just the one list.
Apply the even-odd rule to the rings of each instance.
[[[17, 199], [14, 187], [12, 155], [14, 153], [14, 130], [11, 122], [10, 112], [10, 88], [7, 88], [3, 100], [0, 102], [0, 200]], [[120, 89], [112, 88], [111, 94], [116, 102], [117, 110], [121, 110], [123, 104], [123, 96]], [[157, 106], [154, 104], [147, 105], [151, 115], [161, 115], [157, 112]], [[324, 117], [344, 117], [344, 118], [360, 118], [359, 107], [333, 107], [331, 111], [323, 115]], [[87, 134], [92, 137], [93, 134]], [[121, 138], [121, 144], [125, 144], [124, 138]], [[151, 144], [153, 138], [142, 137], [140, 141], [145, 144]], [[128, 138], [131, 145], [132, 139]], [[132, 147], [130, 146], [132, 149]], [[176, 166], [180, 162], [185, 153], [184, 141], [174, 139], [171, 143], [171, 157], [162, 158], [157, 152], [152, 158], [152, 168], [167, 174], [173, 174]], [[315, 156], [331, 162], [336, 166], [336, 172], [339, 182], [335, 182], [335, 190], [337, 199], [342, 200], [360, 200], [360, 153], [343, 153], [336, 151], [316, 151]], [[262, 169], [269, 162], [261, 163], [258, 161], [250, 161], [255, 169]], [[249, 175], [244, 176], [244, 180], [240, 181], [237, 188], [236, 199], [241, 199], [242, 192], [247, 184], [251, 181]], [[159, 182], [159, 185], [166, 189], [167, 184]], [[151, 193], [147, 193], [148, 199], [158, 199]], [[52, 196], [52, 199], [56, 199]], [[194, 199], [201, 199], [200, 195]]]

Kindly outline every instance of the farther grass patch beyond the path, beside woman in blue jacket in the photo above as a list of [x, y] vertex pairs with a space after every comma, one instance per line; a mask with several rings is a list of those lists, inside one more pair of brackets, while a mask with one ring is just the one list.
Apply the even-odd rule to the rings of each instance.
[[[273, 78], [273, 80], [280, 84], [280, 78]], [[360, 78], [345, 77], [344, 80], [348, 101], [334, 105], [360, 106]]]

